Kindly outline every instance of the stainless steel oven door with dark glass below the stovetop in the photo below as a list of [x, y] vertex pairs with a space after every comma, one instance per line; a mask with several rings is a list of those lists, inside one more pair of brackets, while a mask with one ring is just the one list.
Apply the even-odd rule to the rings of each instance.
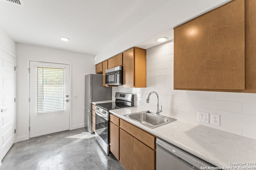
[[[104, 145], [104, 146], [109, 145], [109, 138], [108, 138], [109, 121], [108, 121], [108, 116], [105, 115], [105, 114], [102, 114], [98, 110], [96, 110], [95, 113], [96, 113], [95, 114], [95, 119], [96, 119], [95, 133], [96, 133], [97, 137], [100, 137], [100, 139], [98, 138], [98, 140], [97, 139], [96, 140], [100, 143], [100, 145]], [[102, 148], [103, 148], [103, 146], [102, 146]]]

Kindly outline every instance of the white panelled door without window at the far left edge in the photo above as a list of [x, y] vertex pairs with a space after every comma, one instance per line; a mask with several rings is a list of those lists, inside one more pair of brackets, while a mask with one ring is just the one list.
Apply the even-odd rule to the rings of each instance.
[[0, 158], [15, 141], [15, 58], [0, 49]]

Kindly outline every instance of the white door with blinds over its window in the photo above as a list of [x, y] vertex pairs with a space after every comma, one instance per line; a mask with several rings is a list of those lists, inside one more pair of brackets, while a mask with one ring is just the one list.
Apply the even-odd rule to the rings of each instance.
[[30, 61], [30, 137], [69, 129], [69, 65]]

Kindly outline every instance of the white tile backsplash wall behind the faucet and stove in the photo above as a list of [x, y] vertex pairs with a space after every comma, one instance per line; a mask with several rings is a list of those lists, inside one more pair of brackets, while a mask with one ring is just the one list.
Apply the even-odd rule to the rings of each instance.
[[256, 94], [173, 90], [173, 43], [167, 42], [146, 52], [147, 88], [118, 86], [112, 88], [113, 94], [117, 91], [132, 92], [137, 96], [135, 100], [141, 101], [141, 106], [135, 102], [137, 107], [156, 112], [155, 94], [150, 96], [150, 103], [146, 103], [148, 93], [156, 91], [163, 115], [198, 123], [197, 111], [217, 113], [221, 126], [200, 124], [256, 139]]

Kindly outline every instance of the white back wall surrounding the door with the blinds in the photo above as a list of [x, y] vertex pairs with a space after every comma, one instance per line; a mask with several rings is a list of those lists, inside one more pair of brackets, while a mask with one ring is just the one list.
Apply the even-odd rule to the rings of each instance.
[[[94, 56], [70, 51], [40, 47], [35, 45], [16, 44], [17, 55], [17, 141], [29, 138], [28, 111], [28, 61], [48, 61], [70, 63], [71, 75], [71, 124], [70, 129], [84, 127], [84, 75], [94, 74]], [[77, 95], [77, 99], [72, 96]]]

